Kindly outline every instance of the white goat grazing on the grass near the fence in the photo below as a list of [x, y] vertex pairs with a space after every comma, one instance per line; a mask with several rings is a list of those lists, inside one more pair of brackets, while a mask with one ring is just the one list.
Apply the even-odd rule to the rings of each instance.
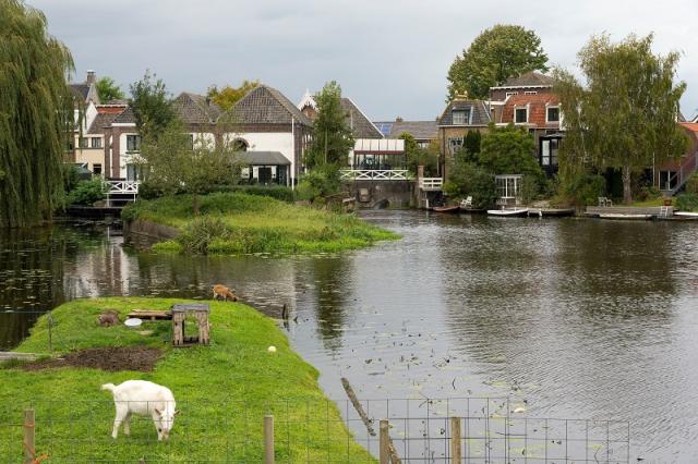
[[123, 424], [123, 434], [131, 434], [131, 415], [151, 416], [157, 429], [157, 439], [167, 440], [174, 425], [174, 416], [179, 413], [174, 408], [174, 396], [167, 387], [146, 380], [127, 380], [115, 386], [105, 383], [103, 390], [113, 394], [117, 416], [113, 419], [111, 438], [117, 438], [119, 426]]

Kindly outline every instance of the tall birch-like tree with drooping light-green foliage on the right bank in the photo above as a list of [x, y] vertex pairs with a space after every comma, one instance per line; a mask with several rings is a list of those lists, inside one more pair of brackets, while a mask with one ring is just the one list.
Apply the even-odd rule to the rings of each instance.
[[564, 109], [563, 178], [590, 169], [618, 169], [623, 200], [631, 202], [631, 176], [653, 163], [681, 156], [686, 135], [676, 124], [686, 84], [675, 83], [678, 53], [652, 53], [652, 35], [612, 44], [594, 36], [579, 51], [582, 86], [556, 70], [555, 91]]

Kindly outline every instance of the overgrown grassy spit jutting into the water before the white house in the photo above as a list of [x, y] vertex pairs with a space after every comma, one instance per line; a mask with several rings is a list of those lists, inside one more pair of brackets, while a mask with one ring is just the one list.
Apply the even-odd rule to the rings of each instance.
[[352, 215], [339, 215], [274, 198], [214, 193], [200, 198], [194, 217], [189, 195], [139, 202], [125, 220], [147, 220], [179, 229], [174, 241], [156, 251], [202, 254], [323, 253], [369, 246], [398, 236]]

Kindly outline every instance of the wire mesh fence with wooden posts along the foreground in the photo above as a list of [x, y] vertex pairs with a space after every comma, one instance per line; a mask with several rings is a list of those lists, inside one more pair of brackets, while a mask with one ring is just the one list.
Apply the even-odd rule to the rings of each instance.
[[[149, 416], [133, 416], [130, 435], [121, 425], [113, 439], [111, 400], [0, 404], [0, 463], [266, 463], [265, 416], [276, 463], [375, 463], [381, 419], [395, 452], [385, 463], [629, 463], [627, 422], [531, 418], [507, 399], [359, 404], [368, 424], [347, 400], [179, 401], [165, 441]], [[25, 445], [27, 430], [34, 439]]]

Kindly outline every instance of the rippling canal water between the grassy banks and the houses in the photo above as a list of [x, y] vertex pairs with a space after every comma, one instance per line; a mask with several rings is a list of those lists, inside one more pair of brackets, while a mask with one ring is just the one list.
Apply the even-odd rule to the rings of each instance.
[[[698, 224], [371, 211], [404, 239], [336, 256], [140, 253], [118, 230], [0, 234], [0, 347], [75, 297], [209, 297], [279, 317], [360, 398], [509, 396], [535, 417], [630, 423], [631, 460], [698, 461]], [[8, 313], [14, 310], [17, 313]]]

